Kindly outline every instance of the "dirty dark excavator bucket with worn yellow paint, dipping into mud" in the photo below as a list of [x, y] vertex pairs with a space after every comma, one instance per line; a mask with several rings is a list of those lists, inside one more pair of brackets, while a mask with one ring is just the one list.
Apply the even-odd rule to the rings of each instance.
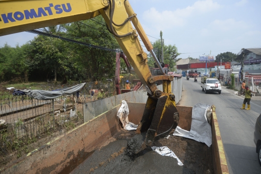
[[145, 140], [136, 146], [134, 153], [137, 154], [154, 141], [164, 138], [179, 121], [178, 111], [175, 107], [174, 95], [163, 94], [159, 98], [149, 96], [146, 102], [142, 120], [136, 130], [137, 134], [146, 132]]

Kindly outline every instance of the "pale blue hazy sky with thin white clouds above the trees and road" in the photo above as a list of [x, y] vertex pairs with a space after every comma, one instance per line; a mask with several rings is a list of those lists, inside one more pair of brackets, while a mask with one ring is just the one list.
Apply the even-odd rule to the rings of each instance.
[[[237, 54], [261, 47], [261, 0], [129, 0], [151, 42], [163, 32], [164, 44], [175, 45], [177, 58]], [[0, 47], [23, 45], [36, 34], [0, 36]], [[150, 37], [152, 36], [152, 37]]]

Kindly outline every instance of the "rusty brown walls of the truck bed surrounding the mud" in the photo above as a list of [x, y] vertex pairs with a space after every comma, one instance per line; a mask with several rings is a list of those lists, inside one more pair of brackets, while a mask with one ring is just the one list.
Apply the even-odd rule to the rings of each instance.
[[[137, 124], [142, 117], [145, 103], [128, 103], [129, 120]], [[130, 135], [121, 131], [116, 113], [120, 105], [102, 113], [94, 119], [60, 135], [26, 156], [18, 158], [13, 163], [0, 169], [1, 174], [69, 174], [80, 163], [87, 159], [96, 149], [113, 142], [117, 132], [123, 137]], [[178, 126], [190, 130], [192, 107], [177, 106], [180, 121]], [[212, 145], [213, 165], [217, 174], [228, 174], [227, 161], [217, 123], [216, 112], [212, 112]], [[99, 165], [99, 164], [97, 164]], [[147, 170], [147, 169], [146, 169]], [[86, 172], [90, 171], [86, 168]]]

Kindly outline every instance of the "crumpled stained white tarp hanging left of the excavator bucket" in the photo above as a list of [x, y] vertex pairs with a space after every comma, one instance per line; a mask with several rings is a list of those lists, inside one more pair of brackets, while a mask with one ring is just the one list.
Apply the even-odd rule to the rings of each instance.
[[122, 103], [121, 107], [116, 115], [118, 122], [120, 120], [120, 122], [122, 123], [122, 126], [125, 130], [136, 130], [138, 125], [135, 125], [135, 124], [129, 122], [128, 115], [130, 112], [129, 112], [129, 107], [128, 107], [127, 102], [125, 100], [122, 100], [121, 103]]

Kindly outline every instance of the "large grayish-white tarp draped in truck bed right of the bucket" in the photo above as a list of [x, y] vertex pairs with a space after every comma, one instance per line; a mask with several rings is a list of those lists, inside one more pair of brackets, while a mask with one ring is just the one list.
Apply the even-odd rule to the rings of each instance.
[[[192, 108], [192, 121], [190, 131], [176, 127], [173, 135], [185, 137], [197, 142], [204, 142], [208, 147], [212, 144], [211, 106], [198, 103]], [[210, 115], [210, 116], [209, 116]]]

